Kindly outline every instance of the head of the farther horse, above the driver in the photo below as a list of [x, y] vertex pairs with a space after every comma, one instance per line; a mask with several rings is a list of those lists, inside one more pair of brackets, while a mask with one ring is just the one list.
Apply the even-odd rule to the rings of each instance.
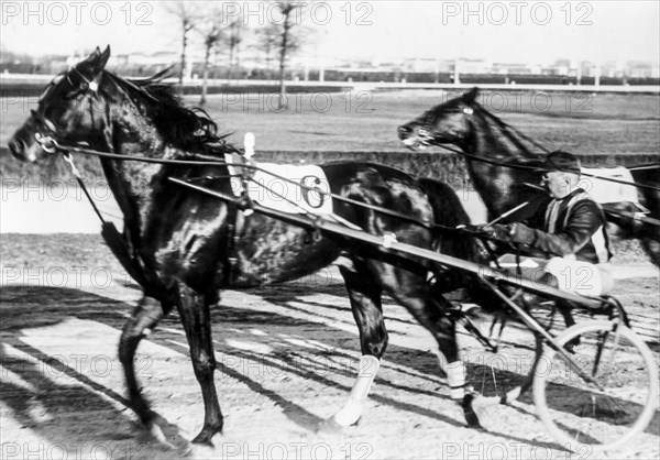
[[400, 125], [399, 139], [404, 145], [413, 150], [440, 144], [463, 146], [473, 130], [471, 118], [475, 110], [477, 94], [477, 88], [474, 88]]

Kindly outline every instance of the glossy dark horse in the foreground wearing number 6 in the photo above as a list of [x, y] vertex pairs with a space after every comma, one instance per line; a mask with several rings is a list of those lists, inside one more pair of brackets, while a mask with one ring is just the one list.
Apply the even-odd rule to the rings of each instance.
[[[231, 195], [228, 167], [221, 162], [235, 149], [216, 135], [216, 124], [204, 112], [184, 108], [170, 87], [157, 79], [132, 81], [107, 72], [109, 56], [109, 48], [102, 53], [97, 48], [56, 77], [9, 146], [16, 158], [35, 162], [45, 155], [35, 141], [41, 134], [63, 145], [84, 145], [114, 155], [215, 160], [208, 165], [182, 166], [101, 158], [124, 217], [124, 262], [138, 274], [145, 295], [127, 321], [119, 344], [130, 401], [145, 425], [154, 428], [155, 414], [141, 394], [134, 355], [145, 331], [164, 315], [172, 309], [179, 313], [205, 405], [204, 426], [195, 441], [210, 442], [223, 424], [213, 382], [216, 358], [209, 314], [219, 302], [219, 289], [294, 280], [340, 255], [345, 261], [340, 270], [363, 355], [380, 360], [387, 346], [381, 304], [386, 292], [429, 330], [449, 363], [458, 362], [455, 326], [446, 315], [448, 302], [431, 295], [426, 281], [429, 267], [421, 261], [394, 260], [342, 237], [310, 239], [302, 228], [258, 213], [248, 216], [229, 202], [168, 180], [200, 178], [198, 185]], [[468, 220], [446, 185], [430, 180], [420, 185], [399, 171], [375, 164], [336, 162], [321, 167], [331, 191], [342, 197], [384, 207], [418, 222], [455, 226]], [[334, 212], [372, 234], [393, 234], [420, 248], [440, 244], [444, 252], [460, 255], [460, 249], [450, 250], [451, 236], [438, 243], [429, 226], [341, 201], [336, 202]], [[458, 241], [459, 247], [468, 245]], [[359, 409], [348, 423], [359, 418]]]

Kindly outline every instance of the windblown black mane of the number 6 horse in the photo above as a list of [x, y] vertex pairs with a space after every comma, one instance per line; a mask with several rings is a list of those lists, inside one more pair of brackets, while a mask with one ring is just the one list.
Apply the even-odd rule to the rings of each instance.
[[163, 140], [188, 152], [224, 154], [237, 152], [227, 135], [218, 135], [218, 125], [200, 108], [184, 107], [170, 84], [163, 83], [166, 72], [146, 79], [129, 79], [106, 70], [111, 80], [154, 122]]

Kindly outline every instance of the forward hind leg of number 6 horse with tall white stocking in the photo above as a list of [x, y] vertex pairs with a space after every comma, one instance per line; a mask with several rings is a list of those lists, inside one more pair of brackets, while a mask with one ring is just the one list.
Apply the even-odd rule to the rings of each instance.
[[381, 305], [383, 288], [380, 283], [366, 275], [365, 271], [359, 274], [345, 267], [340, 270], [351, 299], [353, 317], [360, 330], [362, 349], [360, 370], [349, 402], [333, 417], [339, 425], [349, 426], [358, 423], [362, 415], [366, 396], [380, 368], [381, 357], [387, 347], [387, 330]]

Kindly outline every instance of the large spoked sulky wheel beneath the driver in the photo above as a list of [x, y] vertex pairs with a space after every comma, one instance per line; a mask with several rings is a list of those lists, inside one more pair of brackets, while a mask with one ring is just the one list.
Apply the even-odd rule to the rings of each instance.
[[563, 346], [580, 336], [570, 354], [588, 383], [550, 347], [534, 380], [537, 413], [569, 449], [616, 449], [641, 432], [658, 405], [658, 368], [647, 344], [617, 321], [578, 324], [561, 333]]

